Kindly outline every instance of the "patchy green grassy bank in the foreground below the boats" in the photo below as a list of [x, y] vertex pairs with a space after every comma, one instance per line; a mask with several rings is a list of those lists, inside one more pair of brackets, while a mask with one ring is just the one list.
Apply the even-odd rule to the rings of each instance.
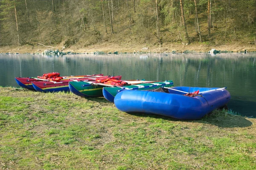
[[0, 169], [256, 169], [256, 119], [127, 114], [104, 98], [0, 88]]

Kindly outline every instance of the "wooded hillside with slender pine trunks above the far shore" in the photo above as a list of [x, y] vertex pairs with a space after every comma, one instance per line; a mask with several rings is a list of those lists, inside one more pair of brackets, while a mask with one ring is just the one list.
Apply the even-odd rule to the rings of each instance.
[[256, 42], [256, 0], [0, 0], [0, 45]]

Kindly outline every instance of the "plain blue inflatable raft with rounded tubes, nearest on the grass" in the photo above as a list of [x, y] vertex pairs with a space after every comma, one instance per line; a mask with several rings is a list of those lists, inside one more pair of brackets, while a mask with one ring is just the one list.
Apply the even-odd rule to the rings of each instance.
[[[174, 87], [163, 90], [167, 93], [121, 91], [116, 95], [114, 103], [116, 108], [127, 113], [145, 112], [193, 120], [224, 107], [230, 100], [230, 93], [224, 88]], [[184, 95], [195, 91], [199, 93], [193, 97]]]

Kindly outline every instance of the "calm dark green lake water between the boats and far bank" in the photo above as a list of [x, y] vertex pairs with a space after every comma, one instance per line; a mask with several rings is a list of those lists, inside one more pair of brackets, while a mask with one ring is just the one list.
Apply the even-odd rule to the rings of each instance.
[[61, 76], [104, 74], [122, 79], [174, 81], [175, 86], [227, 87], [228, 108], [256, 117], [256, 54], [76, 54], [44, 56], [0, 54], [0, 86], [15, 86], [14, 77], [48, 72]]

